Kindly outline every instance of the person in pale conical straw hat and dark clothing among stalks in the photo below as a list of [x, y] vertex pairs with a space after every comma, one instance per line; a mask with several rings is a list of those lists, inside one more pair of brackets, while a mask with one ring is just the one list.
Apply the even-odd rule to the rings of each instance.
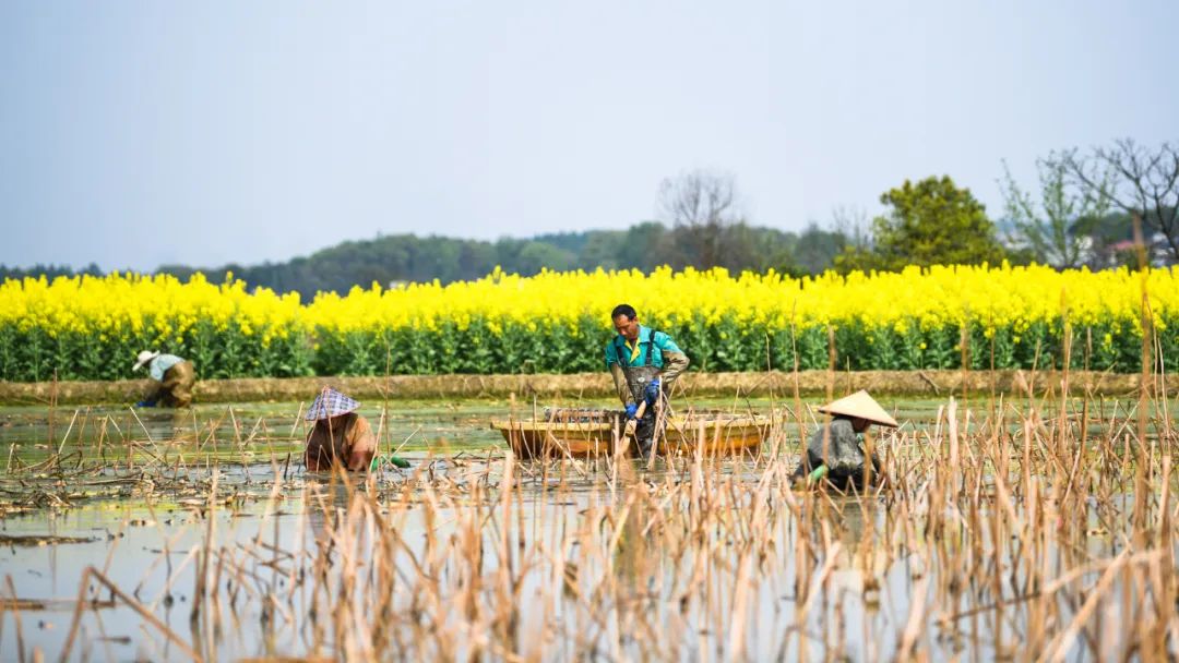
[[895, 429], [896, 419], [864, 390], [828, 403], [818, 411], [830, 415], [831, 420], [811, 433], [795, 478], [825, 468], [826, 480], [837, 488], [863, 488], [867, 464], [871, 463], [870, 476], [875, 477], [880, 475], [880, 460], [864, 452], [861, 436], [872, 424]]

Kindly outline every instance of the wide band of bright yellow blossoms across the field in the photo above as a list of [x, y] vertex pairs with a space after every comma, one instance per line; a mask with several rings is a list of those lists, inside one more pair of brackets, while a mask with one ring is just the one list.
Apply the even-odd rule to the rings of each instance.
[[[828, 327], [851, 333], [865, 330], [867, 342], [875, 344], [878, 333], [883, 339], [970, 325], [984, 338], [1003, 330], [1020, 343], [1029, 330], [1059, 330], [1066, 323], [1076, 333], [1100, 327], [1101, 344], [1114, 347], [1140, 338], [1144, 292], [1154, 329], [1167, 330], [1167, 320], [1179, 316], [1179, 267], [1152, 270], [1145, 278], [1126, 268], [1058, 272], [1003, 264], [909, 267], [900, 273], [828, 272], [803, 279], [773, 271], [733, 274], [723, 268], [676, 272], [659, 267], [650, 274], [542, 271], [534, 277], [496, 268], [472, 281], [442, 285], [435, 280], [388, 290], [371, 284], [345, 294], [320, 293], [305, 303], [296, 293], [248, 289], [232, 277], [210, 283], [199, 273], [186, 281], [126, 273], [6, 280], [0, 284], [0, 330], [38, 330], [48, 337], [103, 344], [159, 339], [178, 346], [213, 330], [263, 347], [305, 349], [299, 339], [312, 336], [323, 340], [354, 332], [428, 334], [477, 329], [486, 330], [481, 343], [492, 346], [516, 333], [552, 338], [559, 331], [572, 338], [608, 338], [613, 333], [608, 312], [625, 301], [654, 329], [724, 323], [729, 330], [731, 324], [740, 343], [757, 344], [757, 352], [764, 352], [763, 332], [790, 338], [808, 330], [825, 337]], [[586, 320], [593, 321], [590, 327], [584, 326]], [[729, 331], [718, 333], [726, 340], [730, 336]], [[275, 344], [276, 339], [295, 340]], [[218, 339], [205, 342], [216, 345]], [[926, 350], [926, 344], [920, 347]]]

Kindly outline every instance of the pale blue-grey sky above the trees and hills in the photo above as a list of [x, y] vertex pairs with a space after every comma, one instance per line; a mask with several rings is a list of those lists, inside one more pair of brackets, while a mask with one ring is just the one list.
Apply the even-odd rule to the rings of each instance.
[[345, 239], [751, 223], [1179, 138], [1179, 2], [0, 4], [0, 263], [151, 270]]

